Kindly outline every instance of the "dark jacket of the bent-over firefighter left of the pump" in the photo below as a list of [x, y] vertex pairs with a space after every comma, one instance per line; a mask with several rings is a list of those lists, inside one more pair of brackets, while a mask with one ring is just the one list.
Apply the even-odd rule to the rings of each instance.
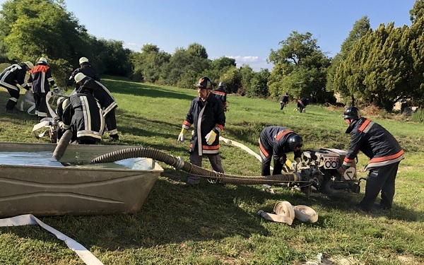
[[[266, 159], [272, 155], [274, 161], [279, 160], [281, 157], [285, 161], [287, 158], [285, 154], [293, 151], [288, 145], [288, 138], [293, 134], [296, 133], [283, 126], [269, 126], [263, 129], [259, 136], [261, 155], [265, 156], [263, 158]], [[295, 159], [300, 158], [302, 155], [301, 151], [293, 153], [295, 154]]]

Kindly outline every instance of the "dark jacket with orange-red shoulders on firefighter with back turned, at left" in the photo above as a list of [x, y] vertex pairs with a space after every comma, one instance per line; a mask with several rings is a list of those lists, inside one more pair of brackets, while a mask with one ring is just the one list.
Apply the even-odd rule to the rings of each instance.
[[33, 87], [33, 93], [47, 93], [50, 91], [49, 85], [54, 86], [52, 70], [45, 63], [36, 64], [28, 78], [28, 86]]

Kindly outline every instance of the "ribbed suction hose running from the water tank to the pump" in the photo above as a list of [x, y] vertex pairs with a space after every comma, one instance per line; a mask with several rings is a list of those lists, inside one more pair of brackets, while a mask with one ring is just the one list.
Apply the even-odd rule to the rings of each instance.
[[212, 170], [206, 170], [192, 163], [185, 162], [182, 158], [175, 158], [172, 155], [168, 155], [162, 151], [145, 148], [126, 148], [105, 155], [100, 155], [90, 161], [80, 161], [79, 165], [83, 164], [97, 164], [97, 163], [112, 163], [114, 161], [123, 160], [127, 158], [152, 158], [154, 160], [161, 161], [167, 165], [174, 167], [176, 170], [183, 170], [192, 175], [199, 177], [206, 177], [207, 179], [220, 182], [223, 184], [267, 184], [267, 183], [279, 183], [279, 182], [293, 182], [301, 181], [300, 177], [295, 173], [285, 173], [281, 175], [271, 176], [240, 176], [240, 175], [228, 175]]

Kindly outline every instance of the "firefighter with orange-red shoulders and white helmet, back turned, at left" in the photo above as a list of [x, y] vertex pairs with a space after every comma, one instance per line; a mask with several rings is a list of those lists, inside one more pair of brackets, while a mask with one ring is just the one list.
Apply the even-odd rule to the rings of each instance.
[[35, 114], [41, 120], [47, 117], [46, 95], [50, 91], [50, 86], [53, 86], [53, 89], [57, 89], [52, 77], [52, 70], [47, 64], [47, 59], [41, 57], [37, 61], [35, 67], [31, 70], [30, 78], [28, 78], [28, 86], [31, 86], [33, 90]]

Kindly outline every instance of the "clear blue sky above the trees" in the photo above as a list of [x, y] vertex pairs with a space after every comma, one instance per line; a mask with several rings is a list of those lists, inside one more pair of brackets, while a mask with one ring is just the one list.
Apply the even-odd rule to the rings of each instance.
[[[0, 3], [3, 3], [0, 1]], [[197, 42], [209, 59], [231, 57], [254, 71], [272, 69], [271, 49], [290, 33], [312, 33], [329, 57], [340, 52], [355, 21], [411, 25], [415, 0], [65, 0], [66, 9], [99, 39], [141, 52], [151, 43], [173, 54]]]

